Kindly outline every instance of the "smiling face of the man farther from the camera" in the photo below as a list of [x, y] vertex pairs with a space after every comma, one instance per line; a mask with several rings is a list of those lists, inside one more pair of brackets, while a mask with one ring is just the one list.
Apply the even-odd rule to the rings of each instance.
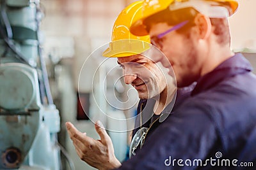
[[155, 97], [167, 88], [162, 68], [143, 55], [120, 57], [118, 64], [123, 68], [125, 83], [138, 91], [140, 99]]

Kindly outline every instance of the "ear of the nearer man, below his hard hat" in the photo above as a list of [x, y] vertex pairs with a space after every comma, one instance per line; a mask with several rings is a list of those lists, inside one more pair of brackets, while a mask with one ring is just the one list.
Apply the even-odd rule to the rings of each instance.
[[196, 28], [198, 29], [198, 34], [200, 39], [206, 39], [211, 34], [212, 24], [209, 17], [198, 13], [195, 17]]

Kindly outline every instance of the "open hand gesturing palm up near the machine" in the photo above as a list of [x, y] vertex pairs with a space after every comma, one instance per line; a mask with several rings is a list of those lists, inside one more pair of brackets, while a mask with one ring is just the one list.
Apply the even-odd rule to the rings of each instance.
[[101, 140], [95, 140], [78, 131], [70, 122], [66, 123], [67, 131], [76, 148], [77, 155], [84, 162], [97, 169], [113, 169], [120, 166], [116, 159], [110, 137], [101, 122], [95, 124], [95, 129]]

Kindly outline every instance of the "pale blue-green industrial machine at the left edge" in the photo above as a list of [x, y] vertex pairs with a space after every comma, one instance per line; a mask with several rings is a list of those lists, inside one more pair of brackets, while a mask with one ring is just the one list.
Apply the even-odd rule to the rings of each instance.
[[0, 169], [61, 169], [60, 115], [40, 46], [40, 1], [0, 3]]

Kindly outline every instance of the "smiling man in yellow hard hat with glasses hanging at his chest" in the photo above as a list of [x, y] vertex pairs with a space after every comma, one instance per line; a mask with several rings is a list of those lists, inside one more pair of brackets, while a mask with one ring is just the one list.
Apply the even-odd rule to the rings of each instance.
[[[159, 56], [163, 53], [150, 44], [148, 35], [134, 36], [131, 34], [129, 28], [132, 20], [141, 17], [142, 4], [142, 1], [132, 3], [118, 15], [113, 26], [112, 41], [109, 43], [108, 49], [102, 53], [104, 57], [118, 58], [118, 64], [123, 68], [124, 82], [134, 86], [141, 99], [137, 111], [140, 116], [136, 118], [130, 156], [136, 155], [135, 152], [138, 152], [140, 146], [143, 145], [142, 138], [145, 138], [146, 134], [147, 139], [150, 138], [149, 136], [154, 129], [170, 115], [173, 105], [175, 104], [175, 108], [177, 108], [181, 101], [184, 101], [183, 98], [186, 98], [186, 95], [191, 91], [191, 88], [179, 90], [179, 102], [176, 100], [175, 103], [177, 88], [175, 78], [168, 75], [168, 72], [172, 72], [169, 70], [172, 69], [170, 64], [166, 69], [163, 65], [157, 65], [154, 60], [150, 59], [152, 57], [147, 56], [149, 54], [147, 50], [150, 47], [150, 52], [156, 50], [154, 53], [158, 53]], [[165, 62], [168, 60], [166, 59]], [[183, 98], [181, 99], [181, 97]], [[106, 131], [99, 127], [102, 125], [95, 125], [101, 142], [87, 138], [77, 131], [74, 125], [70, 122], [67, 123], [68, 134], [74, 141], [76, 151], [82, 160], [99, 169], [104, 166], [109, 168], [120, 165], [113, 153], [111, 139]], [[141, 129], [144, 130], [143, 136], [141, 136]], [[136, 141], [138, 138], [140, 138], [141, 143]], [[143, 141], [145, 140], [143, 139]], [[89, 144], [94, 145], [94, 147], [88, 148]], [[102, 153], [106, 149], [108, 152]]]

